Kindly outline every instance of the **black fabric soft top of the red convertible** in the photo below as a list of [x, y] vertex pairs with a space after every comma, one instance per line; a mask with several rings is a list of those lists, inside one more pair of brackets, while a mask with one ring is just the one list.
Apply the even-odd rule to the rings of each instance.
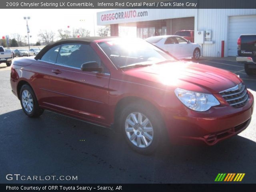
[[48, 45], [46, 45], [36, 56], [35, 59], [40, 59], [49, 49], [53, 48], [56, 45], [64, 44], [64, 43], [84, 43], [84, 44], [90, 44], [91, 42], [95, 40], [101, 40], [101, 39], [108, 39], [108, 38], [116, 38], [114, 36], [110, 37], [81, 37], [81, 38], [69, 38], [69, 39], [62, 39], [58, 40], [56, 42], [52, 42]]

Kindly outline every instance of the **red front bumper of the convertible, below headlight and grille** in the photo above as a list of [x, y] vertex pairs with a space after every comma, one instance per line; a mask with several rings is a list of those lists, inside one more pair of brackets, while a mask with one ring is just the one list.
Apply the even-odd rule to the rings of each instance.
[[175, 144], [204, 143], [214, 145], [245, 130], [250, 124], [254, 109], [253, 95], [241, 108], [216, 106], [206, 112], [196, 112], [188, 108], [186, 112], [166, 119], [170, 140]]

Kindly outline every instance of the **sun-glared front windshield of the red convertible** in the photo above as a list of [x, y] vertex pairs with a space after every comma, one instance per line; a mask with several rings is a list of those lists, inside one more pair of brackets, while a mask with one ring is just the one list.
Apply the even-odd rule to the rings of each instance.
[[116, 39], [99, 43], [117, 68], [148, 66], [175, 59], [142, 39]]

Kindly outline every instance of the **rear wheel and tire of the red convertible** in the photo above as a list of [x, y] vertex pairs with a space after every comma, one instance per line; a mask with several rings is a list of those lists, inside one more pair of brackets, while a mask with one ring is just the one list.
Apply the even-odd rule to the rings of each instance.
[[22, 110], [27, 116], [39, 117], [44, 112], [44, 109], [39, 107], [36, 95], [28, 84], [24, 84], [20, 88], [19, 98]]

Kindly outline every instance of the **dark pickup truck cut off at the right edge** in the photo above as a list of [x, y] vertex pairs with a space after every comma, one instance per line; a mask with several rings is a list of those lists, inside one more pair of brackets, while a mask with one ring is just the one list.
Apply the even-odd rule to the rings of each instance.
[[237, 40], [236, 61], [244, 63], [248, 75], [256, 75], [256, 34], [241, 35]]

